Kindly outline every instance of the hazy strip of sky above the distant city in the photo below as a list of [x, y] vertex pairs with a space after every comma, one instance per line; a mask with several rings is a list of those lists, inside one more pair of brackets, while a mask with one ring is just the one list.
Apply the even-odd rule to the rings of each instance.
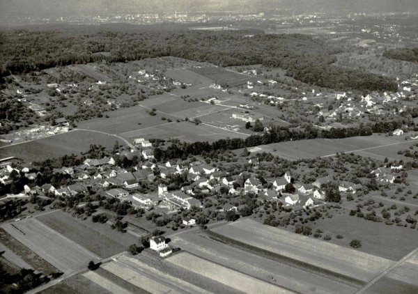
[[0, 15], [295, 10], [298, 12], [418, 12], [418, 0], [0, 0]]

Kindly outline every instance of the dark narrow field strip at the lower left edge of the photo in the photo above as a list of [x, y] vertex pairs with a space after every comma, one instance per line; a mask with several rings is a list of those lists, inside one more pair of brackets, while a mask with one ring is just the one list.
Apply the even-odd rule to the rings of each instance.
[[[38, 254], [36, 254], [31, 249], [23, 245], [22, 242], [19, 242], [8, 232], [4, 231], [4, 229], [1, 227], [0, 241], [8, 249], [10, 249], [10, 254], [8, 254], [7, 249], [1, 250], [6, 250], [5, 258], [12, 259], [10, 260], [11, 262], [15, 264], [20, 263], [19, 266], [23, 266], [24, 268], [26, 268], [26, 265], [29, 265], [29, 268], [33, 268], [45, 274], [52, 274], [54, 272], [59, 271], [53, 265], [42, 259]], [[22, 261], [20, 261], [20, 259], [22, 259]]]

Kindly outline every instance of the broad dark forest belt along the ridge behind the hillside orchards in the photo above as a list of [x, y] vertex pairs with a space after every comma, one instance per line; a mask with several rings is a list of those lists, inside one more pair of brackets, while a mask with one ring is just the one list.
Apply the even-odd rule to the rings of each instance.
[[333, 65], [339, 51], [310, 36], [261, 31], [1, 31], [0, 77], [74, 63], [176, 56], [219, 66], [280, 67], [302, 82], [344, 91], [396, 91], [390, 79]]

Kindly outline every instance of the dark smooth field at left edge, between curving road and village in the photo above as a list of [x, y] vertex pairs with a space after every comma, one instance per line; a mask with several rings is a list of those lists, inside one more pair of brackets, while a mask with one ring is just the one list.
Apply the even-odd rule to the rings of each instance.
[[82, 130], [59, 134], [54, 137], [30, 141], [0, 148], [1, 157], [15, 156], [26, 162], [47, 160], [51, 157], [79, 154], [88, 150], [91, 144], [100, 144], [107, 148], [114, 146], [115, 141], [123, 144], [121, 139], [98, 132]]

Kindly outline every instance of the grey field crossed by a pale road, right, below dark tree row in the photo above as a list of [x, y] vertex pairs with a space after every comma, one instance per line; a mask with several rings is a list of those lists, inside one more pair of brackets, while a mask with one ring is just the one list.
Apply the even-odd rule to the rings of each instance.
[[[403, 160], [410, 161], [411, 158], [398, 155], [398, 150], [408, 149], [417, 140], [405, 141], [403, 136], [384, 137], [373, 134], [368, 137], [351, 137], [344, 139], [314, 139], [288, 141], [276, 144], [262, 145], [251, 150], [255, 152], [271, 152], [273, 155], [284, 157], [287, 160], [298, 160], [300, 158], [316, 158], [335, 155], [336, 153], [355, 153], [376, 160]], [[251, 151], [250, 150], [250, 151]]]

